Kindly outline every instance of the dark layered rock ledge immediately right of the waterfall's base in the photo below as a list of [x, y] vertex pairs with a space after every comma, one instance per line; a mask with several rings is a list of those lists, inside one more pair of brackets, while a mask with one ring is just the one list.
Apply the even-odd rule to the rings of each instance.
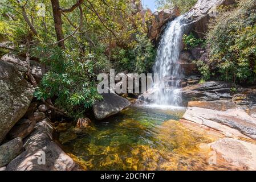
[[184, 100], [231, 100], [233, 84], [222, 81], [208, 81], [202, 84], [187, 86], [182, 89]]

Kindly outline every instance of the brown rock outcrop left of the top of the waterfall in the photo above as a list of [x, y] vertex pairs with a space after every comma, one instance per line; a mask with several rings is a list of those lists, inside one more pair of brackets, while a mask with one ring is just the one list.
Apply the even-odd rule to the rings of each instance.
[[177, 7], [172, 9], [159, 10], [153, 13], [154, 20], [149, 23], [148, 36], [151, 40], [157, 42], [160, 38], [160, 33], [164, 29], [164, 25], [180, 15]]

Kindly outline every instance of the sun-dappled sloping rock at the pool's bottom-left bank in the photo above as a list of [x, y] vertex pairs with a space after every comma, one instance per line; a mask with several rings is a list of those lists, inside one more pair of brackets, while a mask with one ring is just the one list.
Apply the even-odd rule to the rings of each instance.
[[[26, 139], [22, 152], [6, 167], [6, 171], [69, 171], [74, 161], [52, 140], [53, 127], [44, 119]], [[45, 155], [45, 164], [43, 156]]]

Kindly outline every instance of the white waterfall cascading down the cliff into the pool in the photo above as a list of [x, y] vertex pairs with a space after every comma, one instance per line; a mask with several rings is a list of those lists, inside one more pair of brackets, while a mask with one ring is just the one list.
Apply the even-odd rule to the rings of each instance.
[[184, 22], [183, 16], [169, 22], [157, 49], [156, 63], [153, 67], [153, 72], [159, 73], [159, 80], [155, 80], [153, 84], [154, 102], [157, 105], [178, 106], [182, 102], [179, 88], [183, 76], [178, 59], [185, 29]]

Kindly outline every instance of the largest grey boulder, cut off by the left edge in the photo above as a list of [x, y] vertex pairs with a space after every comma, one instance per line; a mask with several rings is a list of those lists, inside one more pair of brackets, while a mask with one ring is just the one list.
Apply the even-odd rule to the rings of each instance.
[[18, 69], [0, 60], [0, 143], [26, 113], [34, 89]]

